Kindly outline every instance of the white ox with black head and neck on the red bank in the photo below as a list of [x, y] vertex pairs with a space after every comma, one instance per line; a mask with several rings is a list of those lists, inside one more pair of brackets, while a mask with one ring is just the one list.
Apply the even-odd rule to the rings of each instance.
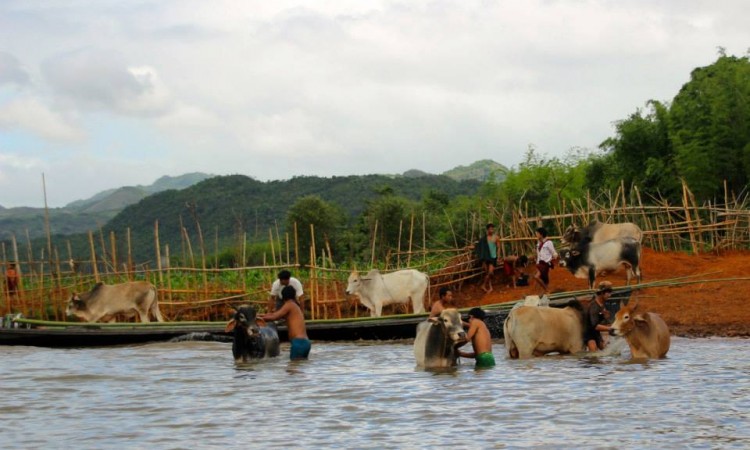
[[641, 282], [641, 243], [635, 239], [611, 239], [601, 244], [579, 243], [572, 250], [561, 253], [560, 265], [578, 278], [589, 280], [589, 289], [594, 288], [596, 273], [600, 270], [616, 270], [627, 267], [627, 283], [634, 276]]

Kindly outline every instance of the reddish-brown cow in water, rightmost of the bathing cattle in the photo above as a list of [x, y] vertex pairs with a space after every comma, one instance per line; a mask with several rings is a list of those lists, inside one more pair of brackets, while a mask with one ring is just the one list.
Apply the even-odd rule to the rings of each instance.
[[669, 351], [669, 328], [658, 314], [643, 311], [638, 301], [625, 305], [609, 328], [612, 336], [624, 336], [633, 359], [664, 358]]

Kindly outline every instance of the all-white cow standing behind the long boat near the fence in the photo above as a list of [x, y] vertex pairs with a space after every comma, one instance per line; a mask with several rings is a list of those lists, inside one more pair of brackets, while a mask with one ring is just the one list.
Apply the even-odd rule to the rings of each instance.
[[409, 300], [414, 314], [424, 312], [424, 293], [429, 287], [430, 277], [418, 270], [405, 269], [383, 275], [378, 269], [372, 269], [364, 277], [353, 270], [346, 293], [356, 294], [371, 316], [380, 317], [383, 306]]

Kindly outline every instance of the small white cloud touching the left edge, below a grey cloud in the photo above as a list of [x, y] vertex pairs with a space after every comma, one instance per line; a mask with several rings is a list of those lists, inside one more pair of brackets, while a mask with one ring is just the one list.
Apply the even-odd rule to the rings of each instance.
[[62, 114], [34, 98], [20, 98], [0, 106], [0, 128], [27, 131], [59, 141], [80, 141], [85, 136], [83, 130]]

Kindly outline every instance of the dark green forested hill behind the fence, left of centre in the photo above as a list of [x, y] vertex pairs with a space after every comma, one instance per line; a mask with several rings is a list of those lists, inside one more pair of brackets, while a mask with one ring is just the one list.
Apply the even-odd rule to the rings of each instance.
[[[444, 175], [418, 178], [384, 175], [322, 178], [295, 177], [284, 181], [260, 182], [244, 175], [218, 176], [180, 191], [170, 190], [151, 195], [130, 205], [103, 227], [104, 235], [114, 231], [124, 236], [130, 228], [136, 260], [154, 256], [154, 222], [159, 221], [162, 247], [169, 244], [176, 252], [181, 246], [180, 224], [186, 228], [193, 246], [197, 246], [196, 220], [200, 224], [207, 248], [213, 251], [215, 236], [223, 245], [247, 233], [249, 241], [268, 241], [268, 230], [279, 226], [284, 232], [287, 211], [305, 196], [315, 195], [340, 207], [353, 223], [369, 200], [383, 196], [420, 201], [436, 198], [449, 201], [461, 195], [474, 195], [481, 183], [476, 180], [455, 181]], [[342, 224], [343, 225], [343, 224]], [[67, 237], [65, 239], [68, 239]], [[87, 255], [83, 236], [70, 237], [78, 251]]]

